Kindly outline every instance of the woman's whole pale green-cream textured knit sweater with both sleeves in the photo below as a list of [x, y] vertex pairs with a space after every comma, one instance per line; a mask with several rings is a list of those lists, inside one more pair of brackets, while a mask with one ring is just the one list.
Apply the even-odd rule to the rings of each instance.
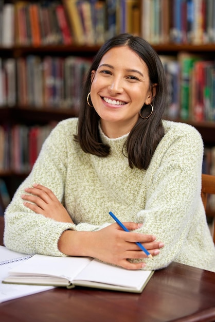
[[[46, 139], [33, 170], [5, 213], [5, 245], [14, 251], [65, 256], [58, 240], [65, 229], [93, 231], [113, 219], [144, 223], [165, 246], [146, 269], [172, 261], [215, 272], [215, 247], [201, 200], [203, 141], [193, 127], [163, 121], [165, 136], [147, 170], [131, 169], [122, 153], [128, 135], [110, 139], [108, 157], [85, 153], [74, 141], [77, 119], [60, 122]], [[23, 205], [24, 188], [40, 183], [55, 193], [75, 224], [60, 223]], [[73, 247], [73, 245], [71, 245]]]

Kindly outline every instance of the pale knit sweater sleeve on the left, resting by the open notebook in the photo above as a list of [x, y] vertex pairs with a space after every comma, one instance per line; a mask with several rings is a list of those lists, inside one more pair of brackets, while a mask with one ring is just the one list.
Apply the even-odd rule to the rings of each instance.
[[[21, 195], [26, 187], [40, 183], [55, 193], [64, 203], [64, 183], [67, 171], [67, 146], [64, 122], [52, 130], [44, 142], [40, 155], [26, 180], [14, 194], [5, 212], [5, 245], [17, 252], [65, 256], [58, 249], [58, 240], [66, 229], [82, 230], [71, 223], [57, 222], [28, 209]], [[72, 135], [72, 134], [71, 134]], [[97, 226], [84, 224], [84, 230], [95, 230]]]

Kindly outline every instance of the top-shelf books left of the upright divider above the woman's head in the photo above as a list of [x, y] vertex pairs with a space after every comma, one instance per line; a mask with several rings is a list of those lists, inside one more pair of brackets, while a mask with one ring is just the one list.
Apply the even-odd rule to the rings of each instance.
[[6, 47], [101, 45], [119, 32], [140, 33], [139, 0], [18, 0], [6, 4], [0, 0], [1, 4], [0, 39]]

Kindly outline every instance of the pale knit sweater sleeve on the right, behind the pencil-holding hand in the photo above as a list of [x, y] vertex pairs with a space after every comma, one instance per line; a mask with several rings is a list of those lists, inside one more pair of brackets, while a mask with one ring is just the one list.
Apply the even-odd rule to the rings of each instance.
[[[199, 256], [199, 260], [203, 260], [201, 254], [193, 252], [200, 249], [204, 241], [200, 241], [198, 246], [196, 244], [195, 250], [191, 240], [195, 216], [198, 211], [202, 216], [204, 214], [201, 202], [202, 159], [202, 138], [199, 132], [188, 126], [182, 126], [179, 134], [174, 133], [173, 128], [157, 147], [146, 175], [145, 209], [137, 213], [136, 221], [144, 223], [139, 232], [154, 234], [165, 246], [153, 260], [146, 259], [146, 269], [165, 267], [181, 256], [184, 256], [182, 262], [189, 262], [189, 256]], [[200, 226], [204, 224], [205, 219], [201, 217]], [[184, 249], [188, 245], [187, 239], [190, 247]]]

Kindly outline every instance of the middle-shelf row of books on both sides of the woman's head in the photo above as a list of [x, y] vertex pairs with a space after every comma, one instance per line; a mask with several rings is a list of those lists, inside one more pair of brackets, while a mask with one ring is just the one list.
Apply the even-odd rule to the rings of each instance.
[[[160, 56], [167, 83], [165, 117], [215, 120], [215, 61], [180, 52]], [[79, 57], [27, 56], [0, 59], [0, 107], [73, 109], [78, 112], [82, 85], [91, 61]]]

